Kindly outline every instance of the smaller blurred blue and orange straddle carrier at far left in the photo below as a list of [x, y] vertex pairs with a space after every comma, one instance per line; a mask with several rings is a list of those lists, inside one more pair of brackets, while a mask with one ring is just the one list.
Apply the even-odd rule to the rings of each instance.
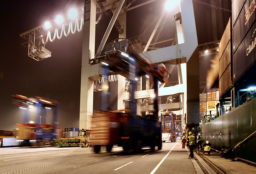
[[51, 145], [53, 138], [62, 136], [58, 126], [57, 101], [43, 97], [12, 96], [13, 104], [23, 111], [23, 123], [15, 126], [16, 141], [20, 141], [21, 146], [44, 147]]

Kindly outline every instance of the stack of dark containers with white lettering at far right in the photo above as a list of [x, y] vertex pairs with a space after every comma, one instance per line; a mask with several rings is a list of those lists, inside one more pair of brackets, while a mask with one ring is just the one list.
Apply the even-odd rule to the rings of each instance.
[[256, 61], [256, 0], [233, 0], [234, 82]]

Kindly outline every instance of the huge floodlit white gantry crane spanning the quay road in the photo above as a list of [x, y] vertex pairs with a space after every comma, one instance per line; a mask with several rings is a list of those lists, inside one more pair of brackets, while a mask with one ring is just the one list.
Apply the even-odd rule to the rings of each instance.
[[[189, 130], [194, 127], [193, 130], [197, 130], [195, 128], [199, 125], [199, 60], [192, 0], [163, 0], [166, 5], [165, 10], [161, 11], [155, 20], [156, 23], [153, 23], [155, 27], [146, 44], [139, 41], [131, 44], [129, 40], [123, 39], [126, 38], [126, 12], [149, 3], [156, 3], [155, 1], [147, 0], [139, 3], [136, 0], [85, 0], [84, 5], [76, 10], [70, 9], [66, 16], [57, 16], [55, 20], [20, 34], [26, 40], [23, 45], [28, 48], [28, 56], [40, 61], [51, 57], [51, 52], [45, 48], [48, 41], [53, 42], [56, 37], [61, 39], [63, 35], [68, 36], [70, 32], [74, 34], [76, 31], [83, 30], [80, 93], [81, 130], [91, 129], [93, 92], [102, 89], [100, 84], [102, 81], [101, 63], [104, 63], [108, 51], [125, 52], [129, 46], [140, 48], [140, 56], [145, 60], [150, 59], [154, 63], [164, 64], [169, 69], [168, 77], [176, 67], [178, 73], [176, 84], [159, 83], [159, 96], [166, 98], [163, 103], [159, 98], [159, 118], [161, 113], [173, 111], [182, 118], [183, 133], [186, 133], [185, 127]], [[106, 10], [111, 10], [113, 17], [98, 49], [95, 49], [95, 26], [101, 19], [102, 12]], [[96, 21], [97, 13], [100, 15]], [[145, 11], [145, 13], [147, 12]], [[165, 23], [164, 20], [168, 22]], [[119, 39], [110, 46], [105, 45], [113, 27], [117, 30]], [[160, 40], [159, 38], [166, 27], [171, 27], [165, 32], [169, 32], [172, 37]], [[131, 26], [131, 28], [133, 27]], [[172, 32], [170, 33], [170, 31]], [[150, 100], [154, 98], [150, 77], [137, 77], [136, 79], [138, 80], [137, 91], [135, 92], [137, 114], [150, 113], [154, 110], [150, 104]], [[118, 81], [117, 110], [124, 109], [126, 101], [129, 100], [129, 93], [127, 92], [129, 79], [113, 74], [108, 80]]]

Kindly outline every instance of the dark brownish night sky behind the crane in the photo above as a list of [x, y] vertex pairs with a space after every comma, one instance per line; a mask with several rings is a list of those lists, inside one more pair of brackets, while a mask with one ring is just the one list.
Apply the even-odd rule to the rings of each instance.
[[[198, 1], [231, 9], [231, 0]], [[137, 3], [141, 2], [144, 0], [137, 0]], [[14, 94], [27, 97], [43, 96], [56, 100], [60, 103], [60, 126], [63, 129], [79, 126], [83, 33], [70, 34], [68, 37], [47, 43], [46, 48], [52, 52], [52, 57], [39, 62], [27, 56], [27, 48], [20, 45], [23, 40], [19, 34], [49, 18], [52, 19], [69, 6], [81, 3], [83, 0], [0, 1], [0, 130], [12, 130], [16, 123], [23, 122], [21, 110], [11, 104], [11, 95]], [[163, 4], [164, 0], [157, 0], [127, 12], [127, 38], [140, 35], [159, 16]], [[198, 2], [193, 2], [193, 6], [198, 43], [220, 40], [231, 12]], [[101, 22], [96, 25], [96, 48], [111, 17], [107, 11]], [[143, 35], [141, 39], [147, 40], [149, 35]], [[107, 42], [117, 37], [117, 32], [112, 30]], [[138, 38], [131, 41], [134, 39]], [[203, 62], [210, 67], [210, 60], [204, 58]], [[204, 68], [200, 71], [205, 72], [206, 65], [201, 66]]]

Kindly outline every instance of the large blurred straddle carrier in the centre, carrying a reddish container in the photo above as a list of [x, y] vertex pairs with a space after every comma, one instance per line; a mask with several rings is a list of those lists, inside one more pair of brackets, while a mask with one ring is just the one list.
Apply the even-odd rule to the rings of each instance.
[[[102, 61], [103, 77], [108, 76], [111, 70], [127, 79], [130, 90], [129, 109], [121, 111], [108, 111], [108, 84], [105, 80], [105, 90], [101, 96], [101, 110], [93, 113], [92, 131], [90, 142], [94, 145], [95, 153], [98, 153], [102, 145], [111, 151], [114, 144], [122, 146], [126, 153], [139, 152], [142, 147], [150, 147], [151, 151], [162, 148], [161, 123], [158, 119], [158, 84], [167, 82], [167, 69], [164, 65], [150, 64], [139, 56], [135, 51], [114, 51], [108, 54], [106, 60]], [[154, 82], [154, 111], [151, 115], [136, 115], [137, 101], [134, 98], [137, 77], [150, 76]], [[129, 82], [128, 82], [129, 81]]]

